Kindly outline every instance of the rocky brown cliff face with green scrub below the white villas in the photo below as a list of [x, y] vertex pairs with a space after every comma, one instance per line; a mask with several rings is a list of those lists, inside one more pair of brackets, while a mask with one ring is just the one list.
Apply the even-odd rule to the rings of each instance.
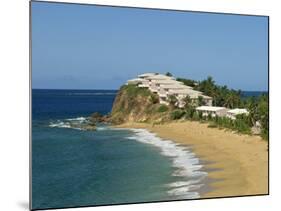
[[169, 106], [159, 104], [159, 98], [146, 88], [124, 85], [114, 100], [110, 122], [163, 122], [169, 118]]

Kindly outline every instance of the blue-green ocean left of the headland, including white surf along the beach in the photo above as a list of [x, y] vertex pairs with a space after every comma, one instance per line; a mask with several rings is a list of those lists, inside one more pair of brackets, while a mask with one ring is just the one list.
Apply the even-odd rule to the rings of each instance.
[[116, 90], [32, 90], [32, 209], [199, 198], [202, 161], [144, 129], [77, 124], [110, 112]]

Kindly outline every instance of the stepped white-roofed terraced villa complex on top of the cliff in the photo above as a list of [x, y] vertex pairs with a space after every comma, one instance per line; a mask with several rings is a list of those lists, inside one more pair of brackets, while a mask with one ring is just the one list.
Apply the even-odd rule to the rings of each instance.
[[202, 97], [206, 105], [212, 105], [212, 98], [203, 95], [202, 92], [193, 90], [192, 87], [184, 85], [174, 77], [157, 74], [145, 73], [138, 75], [137, 78], [127, 81], [127, 84], [136, 84], [138, 87], [148, 88], [153, 93], [158, 94], [161, 104], [169, 104], [169, 96], [174, 95], [178, 99], [177, 106], [182, 108], [185, 105], [184, 98], [189, 96], [193, 102]]

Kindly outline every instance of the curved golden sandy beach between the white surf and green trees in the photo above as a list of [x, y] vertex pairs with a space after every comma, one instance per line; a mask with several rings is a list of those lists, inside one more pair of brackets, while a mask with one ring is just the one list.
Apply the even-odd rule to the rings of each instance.
[[145, 128], [161, 138], [191, 146], [208, 171], [210, 191], [202, 198], [268, 194], [268, 142], [259, 136], [208, 128], [199, 122], [163, 125], [126, 123], [121, 128]]

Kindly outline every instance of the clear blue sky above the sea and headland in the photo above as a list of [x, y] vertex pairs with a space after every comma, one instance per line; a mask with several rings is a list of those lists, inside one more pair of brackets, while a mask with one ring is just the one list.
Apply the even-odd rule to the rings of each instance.
[[268, 19], [32, 2], [32, 88], [118, 89], [146, 72], [268, 90]]

